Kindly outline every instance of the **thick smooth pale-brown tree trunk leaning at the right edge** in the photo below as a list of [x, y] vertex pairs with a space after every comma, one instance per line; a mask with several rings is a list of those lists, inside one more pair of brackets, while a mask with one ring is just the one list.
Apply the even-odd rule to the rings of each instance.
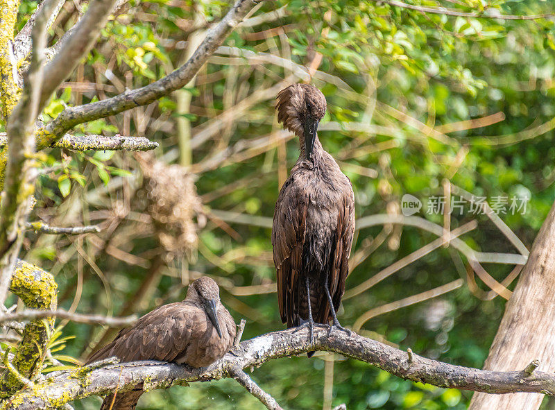
[[[520, 370], [538, 359], [555, 371], [555, 205], [533, 243], [527, 264], [505, 307], [484, 364], [486, 370]], [[470, 410], [536, 410], [543, 395], [475, 393]]]

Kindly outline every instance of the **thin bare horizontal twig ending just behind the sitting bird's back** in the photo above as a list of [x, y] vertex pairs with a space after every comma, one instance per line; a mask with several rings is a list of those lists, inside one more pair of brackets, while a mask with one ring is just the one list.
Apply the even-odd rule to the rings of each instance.
[[121, 327], [133, 325], [137, 321], [137, 316], [125, 316], [121, 318], [108, 317], [101, 315], [87, 315], [78, 314], [65, 311], [63, 309], [58, 310], [39, 310], [39, 309], [26, 309], [24, 311], [16, 313], [6, 313], [0, 314], [0, 323], [6, 321], [33, 321], [40, 318], [50, 318], [57, 317], [59, 319], [69, 319], [76, 323], [89, 323], [89, 324], [100, 324], [110, 327]]

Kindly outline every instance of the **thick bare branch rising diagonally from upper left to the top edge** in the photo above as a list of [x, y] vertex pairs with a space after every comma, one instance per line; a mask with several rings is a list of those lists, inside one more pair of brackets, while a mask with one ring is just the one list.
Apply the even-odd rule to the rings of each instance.
[[176, 89], [185, 87], [210, 55], [216, 51], [225, 38], [230, 35], [258, 2], [257, 0], [237, 0], [221, 22], [207, 31], [205, 40], [198, 46], [191, 58], [168, 76], [145, 87], [124, 92], [110, 99], [66, 108], [46, 126], [44, 137], [40, 142], [37, 142], [37, 146], [44, 148], [44, 146], [53, 144], [67, 130], [79, 123], [105, 118], [140, 105], [148, 105], [160, 99], [160, 97], [176, 91]]

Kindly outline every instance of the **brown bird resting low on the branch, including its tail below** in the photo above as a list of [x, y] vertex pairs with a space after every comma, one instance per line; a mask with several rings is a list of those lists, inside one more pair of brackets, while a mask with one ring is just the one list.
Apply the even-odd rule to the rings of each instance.
[[[199, 368], [221, 359], [235, 339], [236, 326], [220, 302], [220, 289], [210, 277], [189, 285], [182, 302], [160, 306], [132, 327], [119, 332], [112, 343], [94, 353], [87, 364], [108, 357], [120, 361], [175, 361]], [[108, 395], [101, 410], [133, 410], [142, 389]]]

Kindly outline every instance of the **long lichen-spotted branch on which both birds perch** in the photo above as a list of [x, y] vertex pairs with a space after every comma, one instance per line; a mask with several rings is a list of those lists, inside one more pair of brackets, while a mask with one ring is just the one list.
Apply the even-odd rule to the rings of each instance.
[[2, 410], [46, 409], [61, 407], [65, 403], [89, 395], [105, 395], [118, 391], [143, 388], [168, 388], [174, 384], [207, 381], [232, 377], [234, 370], [259, 366], [267, 361], [300, 355], [309, 350], [335, 352], [339, 355], [365, 361], [387, 372], [409, 379], [444, 388], [483, 391], [486, 393], [529, 393], [555, 394], [555, 375], [534, 370], [531, 375], [524, 370], [495, 372], [454, 366], [412, 355], [384, 343], [366, 339], [358, 334], [348, 336], [345, 332], [332, 332], [327, 337], [327, 329], [314, 330], [314, 345], [309, 345], [307, 330], [292, 333], [291, 330], [273, 332], [244, 341], [238, 350], [228, 353], [208, 368], [193, 369], [178, 364], [157, 361], [142, 361], [87, 368], [72, 372], [51, 373], [46, 381], [35, 384], [34, 388], [19, 391], [6, 401]]

